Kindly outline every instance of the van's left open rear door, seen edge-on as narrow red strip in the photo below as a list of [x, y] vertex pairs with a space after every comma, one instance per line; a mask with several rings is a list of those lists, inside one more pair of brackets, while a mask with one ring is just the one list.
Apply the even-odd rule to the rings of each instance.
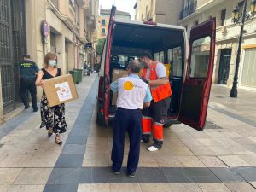
[[105, 96], [104, 96], [104, 118], [105, 123], [108, 125], [108, 115], [109, 115], [109, 85], [110, 85], [110, 76], [109, 76], [109, 66], [110, 66], [110, 54], [111, 54], [111, 44], [112, 44], [112, 38], [113, 38], [113, 20], [115, 15], [116, 7], [112, 6], [111, 13], [109, 16], [109, 25], [108, 25], [108, 35], [106, 38], [106, 55], [105, 55], [105, 65], [104, 65], [104, 90], [105, 90]]

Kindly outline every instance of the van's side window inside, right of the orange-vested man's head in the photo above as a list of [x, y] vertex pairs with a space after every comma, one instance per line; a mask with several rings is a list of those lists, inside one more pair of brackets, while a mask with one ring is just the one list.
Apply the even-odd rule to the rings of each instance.
[[171, 76], [182, 77], [183, 65], [182, 65], [182, 49], [181, 47], [168, 49], [167, 52], [168, 63], [171, 63]]

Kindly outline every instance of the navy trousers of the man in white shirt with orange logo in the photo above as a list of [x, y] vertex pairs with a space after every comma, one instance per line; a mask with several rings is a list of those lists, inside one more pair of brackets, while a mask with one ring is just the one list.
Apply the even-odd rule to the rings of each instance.
[[126, 131], [130, 138], [127, 173], [136, 172], [142, 137], [141, 121], [142, 112], [140, 109], [118, 108], [113, 123], [113, 148], [111, 155], [113, 172], [119, 172], [123, 163]]

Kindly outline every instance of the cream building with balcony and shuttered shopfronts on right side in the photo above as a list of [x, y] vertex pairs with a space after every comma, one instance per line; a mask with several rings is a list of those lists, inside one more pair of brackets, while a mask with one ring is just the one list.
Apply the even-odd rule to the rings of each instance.
[[[247, 1], [249, 13], [251, 1]], [[242, 13], [241, 0], [184, 0], [179, 23], [187, 28], [210, 18], [216, 18], [216, 50], [213, 71], [213, 84], [231, 87], [236, 68], [236, 51], [241, 26], [232, 21], [232, 9], [238, 6]], [[247, 20], [243, 32], [241, 63], [239, 67], [238, 86], [256, 90], [256, 17]]]

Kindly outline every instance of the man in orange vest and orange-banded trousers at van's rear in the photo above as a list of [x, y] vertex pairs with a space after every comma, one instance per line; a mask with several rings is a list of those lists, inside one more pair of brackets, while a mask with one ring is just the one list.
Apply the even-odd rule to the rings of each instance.
[[167, 109], [172, 95], [171, 85], [166, 77], [166, 67], [152, 60], [152, 55], [144, 52], [140, 60], [143, 63], [142, 79], [150, 87], [153, 100], [150, 107], [143, 108], [143, 142], [149, 143], [151, 132], [153, 133], [153, 145], [148, 151], [159, 150], [164, 141], [163, 125]]

